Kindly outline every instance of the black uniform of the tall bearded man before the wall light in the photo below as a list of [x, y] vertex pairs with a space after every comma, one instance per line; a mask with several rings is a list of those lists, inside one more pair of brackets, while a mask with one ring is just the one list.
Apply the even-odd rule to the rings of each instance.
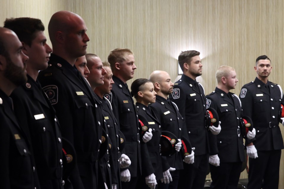
[[191, 146], [195, 147], [194, 163], [183, 164], [178, 188], [204, 188], [209, 161], [209, 133], [205, 128], [206, 97], [203, 87], [186, 75], [175, 82], [170, 100], [185, 119]]

